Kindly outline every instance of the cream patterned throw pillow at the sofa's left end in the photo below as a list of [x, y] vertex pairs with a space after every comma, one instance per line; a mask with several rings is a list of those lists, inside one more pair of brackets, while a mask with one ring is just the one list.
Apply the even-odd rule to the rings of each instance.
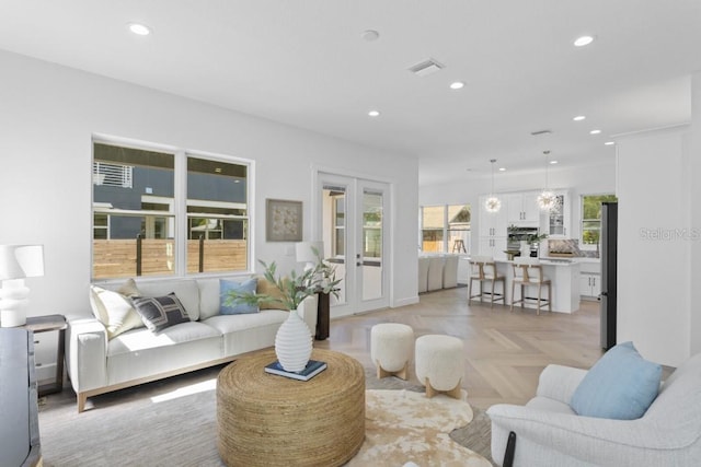
[[135, 327], [143, 326], [131, 301], [118, 292], [90, 287], [92, 313], [107, 328], [107, 338], [112, 339]]

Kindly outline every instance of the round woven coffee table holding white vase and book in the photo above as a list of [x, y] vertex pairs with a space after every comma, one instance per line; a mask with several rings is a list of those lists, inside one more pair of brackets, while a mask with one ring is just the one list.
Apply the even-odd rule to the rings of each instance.
[[314, 349], [329, 365], [309, 381], [265, 373], [274, 350], [244, 357], [217, 380], [217, 447], [228, 466], [340, 466], [365, 440], [365, 371]]

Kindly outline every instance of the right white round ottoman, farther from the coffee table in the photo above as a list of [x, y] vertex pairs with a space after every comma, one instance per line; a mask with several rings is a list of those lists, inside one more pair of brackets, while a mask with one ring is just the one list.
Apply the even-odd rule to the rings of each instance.
[[462, 340], [452, 336], [427, 335], [416, 339], [416, 377], [426, 386], [426, 397], [438, 393], [461, 398], [464, 376]]

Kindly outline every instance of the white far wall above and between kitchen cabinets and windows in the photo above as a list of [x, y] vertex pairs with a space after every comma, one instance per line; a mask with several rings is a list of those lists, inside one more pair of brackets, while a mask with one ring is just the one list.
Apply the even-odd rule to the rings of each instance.
[[[601, 165], [587, 167], [560, 166], [550, 168], [549, 186], [553, 189], [568, 189], [572, 195], [571, 230], [572, 237], [579, 237], [581, 196], [612, 194], [616, 189], [616, 160]], [[529, 173], [509, 174], [498, 173], [494, 175], [494, 190], [498, 192], [540, 190], [543, 188], [545, 173], [533, 171]], [[484, 177], [466, 178], [464, 183], [451, 185], [422, 186], [418, 188], [418, 205], [460, 205], [472, 206], [472, 235], [471, 250], [476, 252], [479, 235], [479, 207], [478, 197], [490, 192], [492, 184], [491, 173]]]

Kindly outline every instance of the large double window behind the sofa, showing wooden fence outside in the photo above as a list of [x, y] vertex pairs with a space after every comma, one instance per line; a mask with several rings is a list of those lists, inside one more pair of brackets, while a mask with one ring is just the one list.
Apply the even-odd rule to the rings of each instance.
[[93, 279], [246, 270], [248, 172], [245, 163], [94, 142]]

